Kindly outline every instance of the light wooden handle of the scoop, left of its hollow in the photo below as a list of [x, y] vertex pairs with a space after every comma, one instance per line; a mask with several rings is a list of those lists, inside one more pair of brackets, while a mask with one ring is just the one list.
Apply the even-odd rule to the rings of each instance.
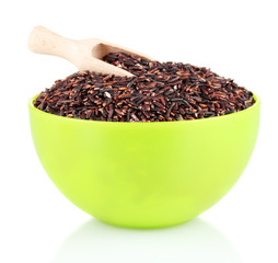
[[38, 54], [66, 58], [76, 66], [78, 60], [78, 42], [62, 37], [44, 26], [35, 26], [28, 37], [30, 50]]

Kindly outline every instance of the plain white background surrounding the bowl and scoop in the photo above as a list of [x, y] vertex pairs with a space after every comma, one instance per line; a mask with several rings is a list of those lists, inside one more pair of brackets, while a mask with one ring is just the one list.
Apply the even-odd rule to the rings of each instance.
[[[1, 1], [0, 262], [278, 262], [278, 9], [264, 1]], [[210, 67], [262, 98], [242, 178], [188, 224], [120, 229], [73, 206], [33, 147], [28, 99], [76, 68], [27, 49], [32, 27]]]

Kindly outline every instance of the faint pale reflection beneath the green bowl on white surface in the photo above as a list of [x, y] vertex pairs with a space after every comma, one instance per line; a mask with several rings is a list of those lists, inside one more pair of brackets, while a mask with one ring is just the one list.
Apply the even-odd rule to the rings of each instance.
[[96, 219], [83, 224], [56, 252], [51, 263], [240, 263], [227, 237], [201, 219], [152, 230], [125, 229]]

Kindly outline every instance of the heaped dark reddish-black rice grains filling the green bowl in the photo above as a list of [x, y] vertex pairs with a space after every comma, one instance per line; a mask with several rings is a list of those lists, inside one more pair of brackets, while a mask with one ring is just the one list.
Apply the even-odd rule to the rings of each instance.
[[103, 60], [135, 77], [76, 72], [43, 91], [34, 105], [59, 116], [106, 122], [167, 122], [231, 114], [253, 93], [205, 67], [113, 53]]

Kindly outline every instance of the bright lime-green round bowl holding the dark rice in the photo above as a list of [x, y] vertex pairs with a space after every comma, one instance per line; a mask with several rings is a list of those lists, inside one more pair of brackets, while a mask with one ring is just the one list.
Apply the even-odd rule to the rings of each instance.
[[224, 116], [161, 123], [96, 122], [28, 103], [45, 171], [74, 205], [115, 226], [190, 220], [235, 184], [254, 149], [260, 101]]

